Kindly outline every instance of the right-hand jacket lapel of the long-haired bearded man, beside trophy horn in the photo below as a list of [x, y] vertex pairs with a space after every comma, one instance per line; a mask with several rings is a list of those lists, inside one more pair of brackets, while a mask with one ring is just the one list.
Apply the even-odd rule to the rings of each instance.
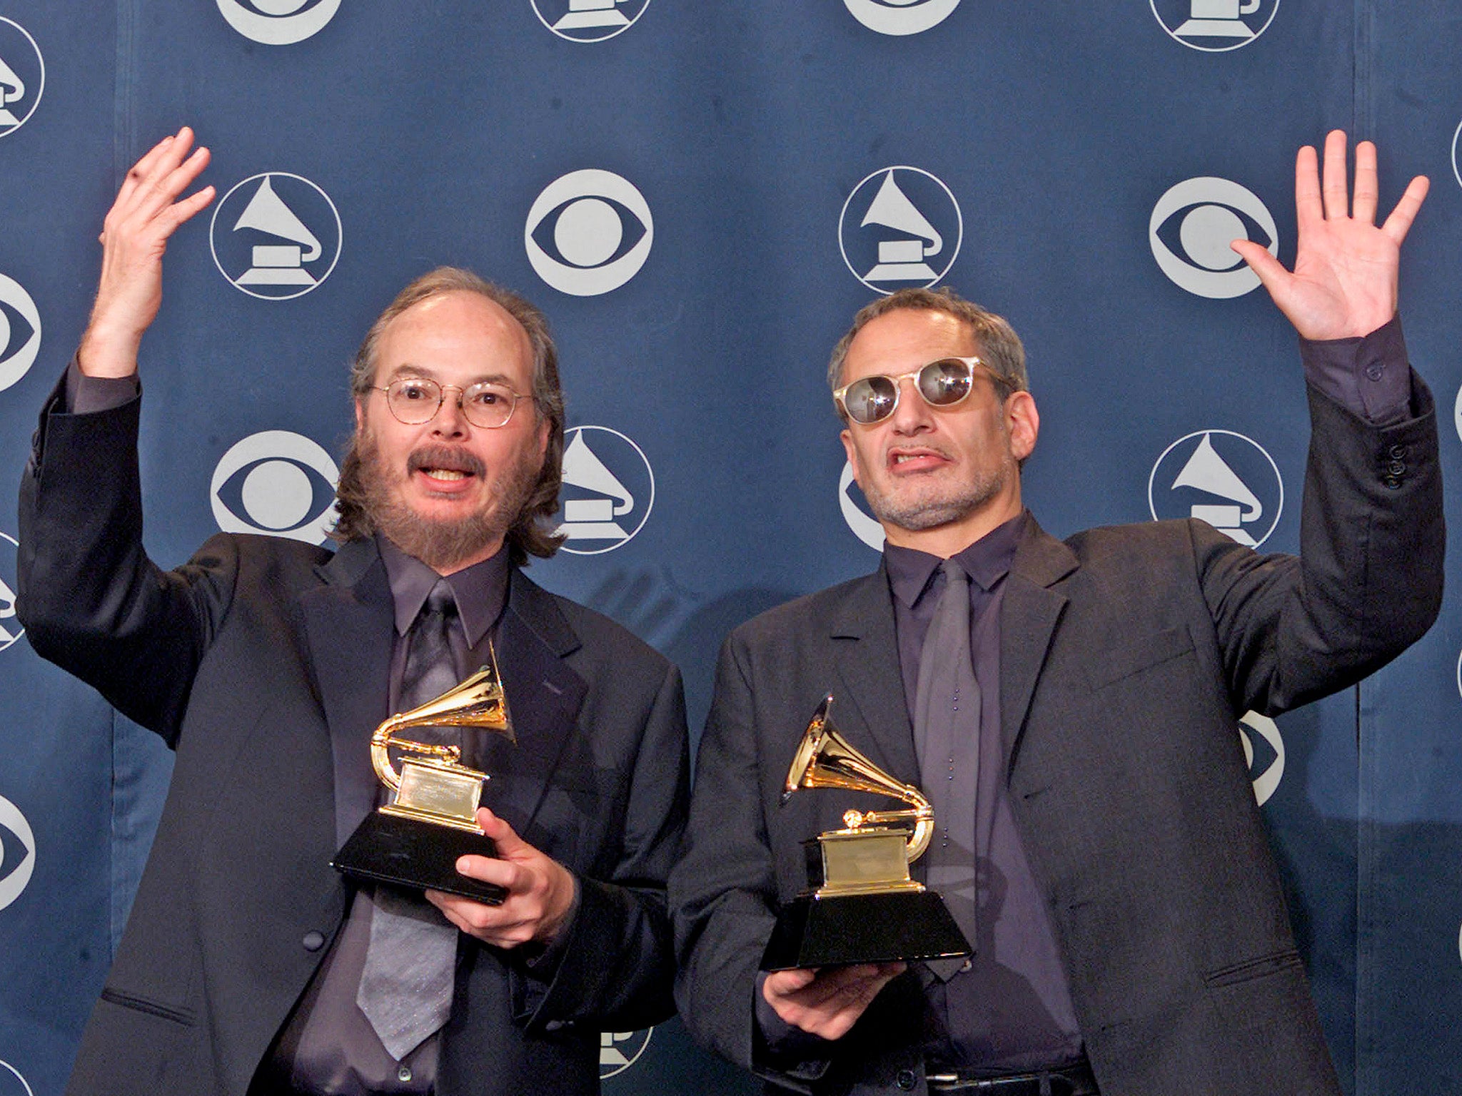
[[525, 834], [558, 764], [588, 685], [564, 658], [577, 650], [553, 596], [522, 571], [509, 579], [507, 608], [497, 628], [497, 666], [518, 744], [493, 735], [484, 750], [484, 804]]

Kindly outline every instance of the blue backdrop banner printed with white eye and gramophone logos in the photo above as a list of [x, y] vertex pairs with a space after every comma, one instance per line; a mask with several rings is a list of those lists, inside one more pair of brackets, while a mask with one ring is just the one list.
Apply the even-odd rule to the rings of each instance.
[[[126, 168], [192, 124], [213, 206], [143, 348], [146, 544], [320, 542], [346, 362], [439, 263], [548, 313], [569, 396], [534, 577], [686, 674], [870, 570], [825, 384], [852, 313], [956, 286], [1023, 336], [1047, 529], [1200, 514], [1294, 551], [1295, 339], [1228, 250], [1292, 262], [1294, 152], [1380, 145], [1412, 359], [1462, 528], [1462, 22], [1450, 0], [0, 0], [0, 481], [85, 324]], [[0, 504], [0, 1096], [58, 1093], [170, 757], [42, 662]], [[1462, 1086], [1462, 567], [1396, 663], [1234, 725], [1354, 1093]], [[1113, 748], [1121, 748], [1114, 742]], [[288, 758], [276, 758], [287, 764]], [[611, 1093], [743, 1093], [677, 1021], [605, 1032]]]

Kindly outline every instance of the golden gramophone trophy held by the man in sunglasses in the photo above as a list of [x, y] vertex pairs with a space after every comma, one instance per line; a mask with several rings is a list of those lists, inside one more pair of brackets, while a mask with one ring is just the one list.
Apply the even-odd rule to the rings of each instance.
[[887, 795], [909, 807], [846, 811], [845, 829], [803, 842], [808, 888], [778, 912], [762, 969], [971, 954], [944, 900], [909, 878], [909, 864], [934, 833], [934, 808], [918, 788], [854, 748], [833, 726], [830, 707], [829, 693], [792, 756], [782, 802], [803, 789], [839, 788]]

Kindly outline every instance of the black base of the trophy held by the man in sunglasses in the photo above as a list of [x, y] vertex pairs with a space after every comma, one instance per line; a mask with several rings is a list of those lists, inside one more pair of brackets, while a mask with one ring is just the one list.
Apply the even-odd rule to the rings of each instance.
[[931, 890], [803, 894], [776, 915], [762, 954], [763, 970], [845, 963], [893, 963], [972, 954], [944, 900]]

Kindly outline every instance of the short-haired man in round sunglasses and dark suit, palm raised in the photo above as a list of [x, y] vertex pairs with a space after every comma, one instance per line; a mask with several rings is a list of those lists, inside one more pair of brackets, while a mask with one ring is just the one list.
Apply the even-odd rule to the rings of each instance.
[[[1414, 180], [1376, 227], [1376, 149], [1300, 152], [1295, 270], [1234, 248], [1301, 336], [1301, 555], [1155, 522], [1066, 542], [1025, 509], [1039, 416], [1010, 326], [947, 291], [858, 313], [832, 355], [877, 573], [728, 639], [671, 878], [677, 998], [773, 1090], [991, 1096], [1339, 1092], [1235, 719], [1358, 681], [1442, 593], [1430, 393], [1396, 320]], [[791, 796], [803, 720], [934, 805], [915, 865], [968, 963], [759, 973], [801, 843], [852, 794]], [[858, 804], [861, 807], [861, 804]], [[833, 899], [827, 899], [832, 902]]]

